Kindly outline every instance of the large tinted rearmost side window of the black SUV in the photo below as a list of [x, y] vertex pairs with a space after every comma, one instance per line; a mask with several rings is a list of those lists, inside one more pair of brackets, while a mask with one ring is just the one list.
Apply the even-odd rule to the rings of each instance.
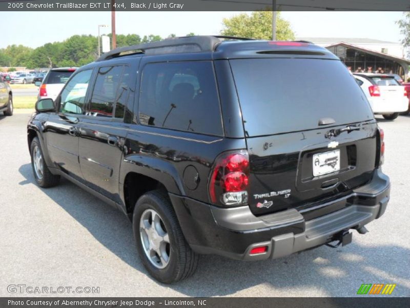
[[140, 89], [139, 121], [144, 125], [222, 135], [212, 62], [145, 66]]

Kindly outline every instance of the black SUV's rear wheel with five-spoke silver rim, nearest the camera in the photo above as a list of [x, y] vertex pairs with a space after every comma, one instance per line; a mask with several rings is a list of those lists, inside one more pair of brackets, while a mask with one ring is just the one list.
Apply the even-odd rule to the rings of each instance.
[[[151, 223], [149, 217], [151, 217]], [[135, 204], [132, 225], [138, 255], [152, 277], [163, 283], [173, 283], [195, 272], [199, 256], [192, 251], [183, 236], [174, 209], [165, 192], [153, 190], [142, 195]], [[158, 226], [159, 232], [156, 231]], [[152, 242], [149, 241], [152, 238], [149, 234], [153, 232], [159, 235], [160, 243], [158, 243], [158, 237]], [[167, 235], [168, 243], [163, 240], [167, 238]], [[161, 260], [155, 250], [162, 252]]]

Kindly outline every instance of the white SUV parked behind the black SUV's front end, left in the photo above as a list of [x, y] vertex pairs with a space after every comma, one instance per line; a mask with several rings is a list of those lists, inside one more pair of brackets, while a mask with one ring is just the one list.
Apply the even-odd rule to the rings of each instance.
[[35, 81], [34, 84], [39, 86], [38, 99], [50, 98], [55, 100], [58, 93], [63, 89], [67, 80], [75, 72], [76, 67], [53, 68], [45, 75], [43, 82]]

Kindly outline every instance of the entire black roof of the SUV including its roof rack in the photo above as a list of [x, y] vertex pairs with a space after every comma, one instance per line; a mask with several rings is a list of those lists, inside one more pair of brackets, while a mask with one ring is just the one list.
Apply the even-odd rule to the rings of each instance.
[[274, 56], [289, 54], [338, 59], [329, 50], [306, 41], [260, 41], [233, 36], [185, 36], [167, 40], [116, 48], [101, 55], [97, 62], [126, 55], [165, 55], [180, 53], [212, 53], [213, 59]]

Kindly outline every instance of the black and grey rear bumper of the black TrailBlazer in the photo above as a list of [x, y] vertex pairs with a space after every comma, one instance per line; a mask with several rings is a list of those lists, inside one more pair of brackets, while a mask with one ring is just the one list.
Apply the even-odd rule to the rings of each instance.
[[[170, 194], [182, 232], [199, 254], [215, 254], [238, 260], [280, 258], [323, 245], [342, 230], [359, 229], [384, 214], [390, 183], [380, 169], [371, 182], [351, 195], [325, 204], [344, 203], [342, 209], [305, 220], [296, 210], [255, 217], [248, 206], [218, 208]], [[255, 246], [267, 252], [250, 255]]]

